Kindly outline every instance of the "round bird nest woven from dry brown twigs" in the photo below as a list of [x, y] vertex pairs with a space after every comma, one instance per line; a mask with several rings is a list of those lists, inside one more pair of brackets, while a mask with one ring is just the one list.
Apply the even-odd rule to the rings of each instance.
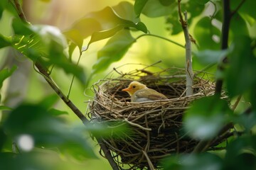
[[[103, 139], [116, 162], [129, 164], [130, 169], [144, 169], [150, 164], [159, 168], [164, 157], [193, 151], [198, 141], [183, 132], [182, 116], [192, 101], [213, 95], [214, 84], [205, 79], [206, 74], [203, 78], [194, 79], [193, 96], [186, 96], [186, 76], [181, 69], [175, 69], [171, 75], [167, 70], [156, 73], [134, 70], [119, 78], [97, 82], [93, 86], [95, 99], [89, 104], [92, 123], [114, 126], [113, 122], [121, 122], [132, 129], [122, 137], [113, 134]], [[131, 103], [129, 95], [121, 89], [133, 80], [159, 91], [169, 100]]]

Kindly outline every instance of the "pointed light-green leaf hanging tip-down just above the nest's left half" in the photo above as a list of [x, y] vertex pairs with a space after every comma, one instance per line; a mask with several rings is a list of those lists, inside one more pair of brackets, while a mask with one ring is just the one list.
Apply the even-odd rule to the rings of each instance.
[[128, 30], [123, 30], [110, 38], [105, 47], [97, 53], [97, 62], [92, 67], [92, 74], [103, 71], [112, 62], [120, 60], [134, 42], [135, 39]]

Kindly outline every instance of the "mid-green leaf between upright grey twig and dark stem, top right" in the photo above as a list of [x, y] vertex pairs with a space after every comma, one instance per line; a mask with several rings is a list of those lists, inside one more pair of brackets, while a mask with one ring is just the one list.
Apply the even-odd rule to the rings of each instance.
[[213, 40], [213, 36], [220, 38], [220, 30], [213, 26], [210, 18], [201, 18], [196, 23], [193, 34], [201, 50], [209, 49], [209, 47], [210, 50], [220, 49], [220, 42]]

